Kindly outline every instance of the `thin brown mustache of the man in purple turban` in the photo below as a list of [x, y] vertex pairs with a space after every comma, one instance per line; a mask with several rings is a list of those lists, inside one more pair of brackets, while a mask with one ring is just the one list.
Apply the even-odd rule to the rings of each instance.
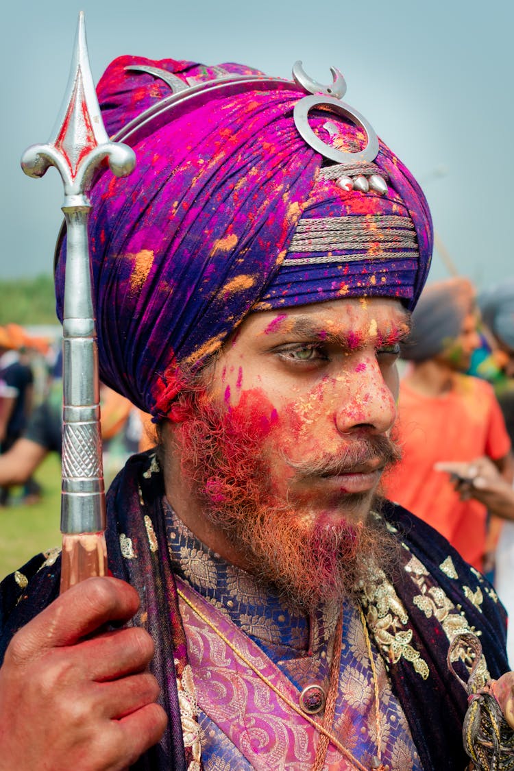
[[352, 473], [359, 466], [392, 466], [401, 460], [401, 450], [388, 436], [359, 436], [349, 440], [336, 454], [324, 453], [312, 460], [285, 460], [298, 476], [332, 476]]

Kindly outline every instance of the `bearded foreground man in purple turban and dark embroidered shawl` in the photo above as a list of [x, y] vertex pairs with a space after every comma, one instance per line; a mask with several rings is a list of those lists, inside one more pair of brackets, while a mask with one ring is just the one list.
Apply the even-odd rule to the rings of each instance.
[[160, 440], [109, 490], [113, 577], [2, 584], [0, 769], [464, 769], [448, 645], [477, 630], [498, 678], [502, 607], [378, 496], [422, 191], [382, 142], [328, 160], [368, 141], [339, 109], [305, 140], [297, 82], [126, 56], [98, 93], [138, 159], [92, 188], [100, 377]]

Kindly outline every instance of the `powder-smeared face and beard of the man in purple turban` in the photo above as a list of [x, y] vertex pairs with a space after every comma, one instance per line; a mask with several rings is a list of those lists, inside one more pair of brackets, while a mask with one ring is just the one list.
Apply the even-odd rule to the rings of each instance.
[[303, 607], [354, 591], [390, 547], [367, 520], [398, 456], [388, 435], [407, 332], [390, 299], [259, 312], [207, 389], [184, 394], [174, 442], [202, 512], [193, 530]]

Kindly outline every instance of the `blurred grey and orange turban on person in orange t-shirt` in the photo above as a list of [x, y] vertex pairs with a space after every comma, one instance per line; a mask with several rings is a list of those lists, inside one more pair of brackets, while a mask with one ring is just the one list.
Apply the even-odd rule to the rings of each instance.
[[450, 348], [462, 332], [462, 322], [475, 307], [475, 290], [467, 278], [430, 284], [412, 314], [412, 330], [401, 356], [413, 362], [432, 359]]

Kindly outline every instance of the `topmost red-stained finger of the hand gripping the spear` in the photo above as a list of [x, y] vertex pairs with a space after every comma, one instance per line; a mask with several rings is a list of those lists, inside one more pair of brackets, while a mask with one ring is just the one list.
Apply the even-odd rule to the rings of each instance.
[[32, 658], [49, 648], [73, 645], [108, 621], [128, 621], [137, 608], [139, 595], [125, 581], [88, 578], [29, 621], [11, 646], [18, 658]]

